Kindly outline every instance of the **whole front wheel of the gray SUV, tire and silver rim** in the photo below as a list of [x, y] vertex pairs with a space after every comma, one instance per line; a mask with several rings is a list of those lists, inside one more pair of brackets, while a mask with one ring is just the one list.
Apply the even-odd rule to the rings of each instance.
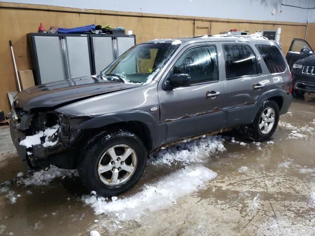
[[83, 184], [103, 197], [125, 193], [144, 172], [148, 152], [143, 142], [126, 131], [97, 135], [92, 140], [78, 164]]

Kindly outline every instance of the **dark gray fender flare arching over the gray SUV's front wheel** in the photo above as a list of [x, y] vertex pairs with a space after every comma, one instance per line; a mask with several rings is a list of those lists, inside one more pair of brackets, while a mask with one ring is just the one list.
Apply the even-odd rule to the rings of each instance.
[[161, 130], [158, 121], [148, 112], [127, 111], [123, 113], [109, 113], [90, 118], [77, 126], [78, 129], [100, 128], [105, 125], [126, 121], [139, 121], [144, 123], [150, 130], [153, 147], [161, 145]]

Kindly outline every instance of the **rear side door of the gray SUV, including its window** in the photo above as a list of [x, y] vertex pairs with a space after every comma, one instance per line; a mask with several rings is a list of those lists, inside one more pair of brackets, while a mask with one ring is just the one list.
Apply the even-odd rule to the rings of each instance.
[[223, 42], [221, 46], [225, 63], [226, 126], [250, 123], [257, 99], [269, 89], [268, 73], [262, 71], [261, 58], [251, 44]]

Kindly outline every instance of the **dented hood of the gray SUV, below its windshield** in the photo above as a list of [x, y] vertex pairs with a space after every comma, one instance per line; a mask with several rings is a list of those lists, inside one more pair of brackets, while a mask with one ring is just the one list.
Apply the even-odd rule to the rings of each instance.
[[137, 86], [139, 85], [108, 82], [92, 76], [57, 81], [19, 92], [15, 97], [15, 107], [25, 111], [33, 108], [57, 108], [70, 102]]

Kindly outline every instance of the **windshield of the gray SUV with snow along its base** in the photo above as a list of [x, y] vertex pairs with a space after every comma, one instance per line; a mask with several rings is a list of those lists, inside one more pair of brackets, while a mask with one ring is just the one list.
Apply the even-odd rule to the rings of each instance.
[[118, 77], [125, 83], [149, 83], [179, 46], [171, 43], [136, 45], [107, 66], [102, 76]]

